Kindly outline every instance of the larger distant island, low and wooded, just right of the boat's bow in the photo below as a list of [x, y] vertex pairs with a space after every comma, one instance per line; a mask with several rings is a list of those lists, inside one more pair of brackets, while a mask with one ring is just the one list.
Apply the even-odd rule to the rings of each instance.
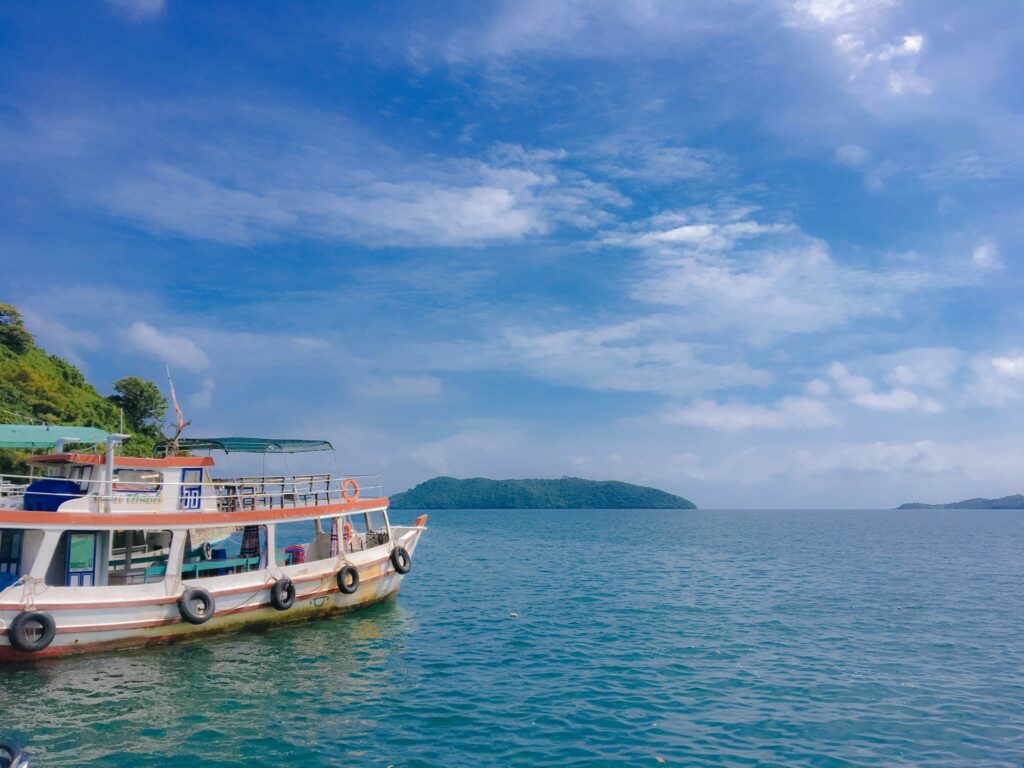
[[616, 480], [435, 477], [391, 497], [392, 509], [696, 509], [657, 488]]

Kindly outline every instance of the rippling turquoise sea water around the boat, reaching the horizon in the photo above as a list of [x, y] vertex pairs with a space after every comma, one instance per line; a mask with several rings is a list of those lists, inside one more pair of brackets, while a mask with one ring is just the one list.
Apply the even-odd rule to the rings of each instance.
[[394, 601], [0, 713], [37, 768], [1020, 766], [1024, 513], [431, 512]]

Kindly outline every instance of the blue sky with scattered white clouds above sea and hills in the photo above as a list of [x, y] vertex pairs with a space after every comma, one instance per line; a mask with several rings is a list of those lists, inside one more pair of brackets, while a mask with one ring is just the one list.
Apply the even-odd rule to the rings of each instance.
[[1024, 489], [1016, 1], [0, 10], [0, 292], [390, 490]]

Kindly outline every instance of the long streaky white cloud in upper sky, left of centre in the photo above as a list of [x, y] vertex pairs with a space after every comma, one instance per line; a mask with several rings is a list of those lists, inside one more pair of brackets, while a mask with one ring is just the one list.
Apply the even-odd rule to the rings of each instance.
[[97, 197], [144, 227], [224, 243], [307, 234], [370, 246], [479, 246], [563, 224], [592, 228], [608, 219], [605, 208], [629, 204], [560, 168], [564, 158], [498, 145], [486, 162], [424, 161], [385, 174], [300, 156], [288, 168], [270, 164], [262, 177], [232, 166], [221, 169], [222, 178], [159, 163], [128, 172]]

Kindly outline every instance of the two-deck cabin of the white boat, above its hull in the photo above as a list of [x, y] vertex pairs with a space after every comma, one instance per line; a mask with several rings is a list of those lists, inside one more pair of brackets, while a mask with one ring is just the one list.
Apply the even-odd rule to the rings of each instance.
[[9, 513], [0, 521], [0, 592], [23, 577], [46, 587], [206, 580], [391, 541], [379, 477], [217, 477], [212, 456], [195, 455], [333, 452], [327, 441], [180, 440], [187, 455], [147, 459], [116, 456], [117, 437], [105, 436], [105, 454], [37, 455], [29, 475], [0, 477], [0, 513]]

